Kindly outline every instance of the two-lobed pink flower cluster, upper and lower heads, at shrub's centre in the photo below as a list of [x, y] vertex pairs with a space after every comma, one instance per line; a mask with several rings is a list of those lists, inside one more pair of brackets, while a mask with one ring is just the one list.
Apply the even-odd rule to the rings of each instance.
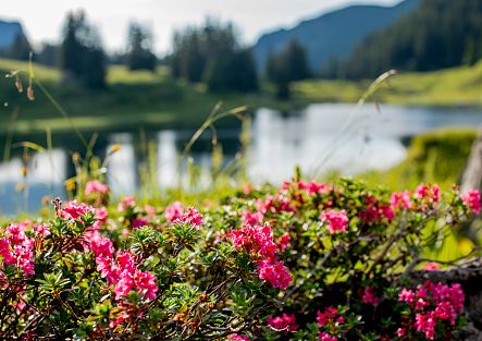
[[[234, 247], [243, 248], [258, 261], [258, 277], [273, 288], [285, 290], [293, 281], [289, 270], [276, 258], [276, 244], [269, 226], [246, 224], [240, 230], [231, 230], [228, 234]], [[261, 259], [260, 259], [261, 258]]]

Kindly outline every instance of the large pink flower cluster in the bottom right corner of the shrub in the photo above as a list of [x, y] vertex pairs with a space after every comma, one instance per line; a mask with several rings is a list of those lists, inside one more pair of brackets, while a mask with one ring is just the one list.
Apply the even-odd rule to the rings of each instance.
[[[417, 287], [416, 291], [401, 289], [398, 300], [406, 302], [416, 312], [413, 327], [423, 332], [429, 340], [435, 338], [435, 328], [438, 321], [448, 321], [452, 326], [457, 320], [457, 315], [464, 308], [465, 294], [458, 283], [452, 285], [432, 283], [427, 281]], [[407, 325], [397, 330], [404, 336]]]

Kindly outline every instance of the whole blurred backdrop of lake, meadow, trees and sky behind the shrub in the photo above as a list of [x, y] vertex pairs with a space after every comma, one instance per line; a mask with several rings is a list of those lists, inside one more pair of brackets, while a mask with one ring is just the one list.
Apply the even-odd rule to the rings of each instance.
[[480, 0], [10, 1], [0, 214], [65, 196], [92, 155], [118, 195], [280, 183], [297, 166], [460, 183], [481, 58]]

